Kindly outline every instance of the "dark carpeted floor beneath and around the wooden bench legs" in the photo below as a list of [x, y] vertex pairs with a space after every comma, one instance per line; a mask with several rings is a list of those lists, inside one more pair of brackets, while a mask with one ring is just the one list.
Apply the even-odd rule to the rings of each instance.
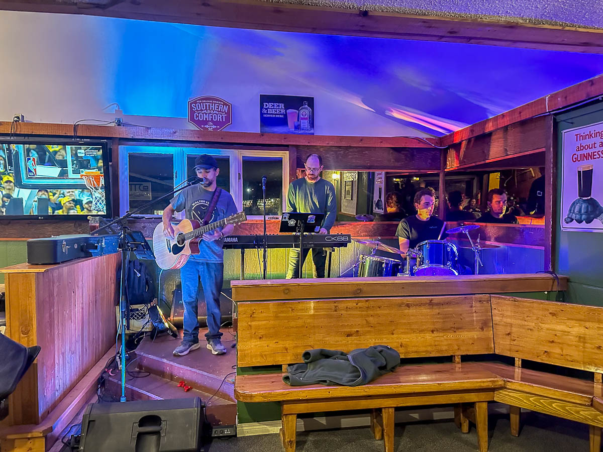
[[[511, 436], [507, 415], [488, 416], [490, 452], [565, 452], [589, 450], [589, 428], [540, 413], [523, 413], [519, 437]], [[297, 452], [383, 452], [383, 442], [375, 441], [368, 427], [298, 432]], [[396, 424], [394, 450], [405, 452], [475, 452], [475, 428], [464, 435], [454, 422], [429, 421]], [[206, 452], [282, 451], [279, 435], [213, 439]]]

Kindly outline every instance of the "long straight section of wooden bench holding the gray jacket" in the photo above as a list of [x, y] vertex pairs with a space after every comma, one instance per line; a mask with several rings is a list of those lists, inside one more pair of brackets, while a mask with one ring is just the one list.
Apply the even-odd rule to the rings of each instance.
[[[395, 313], [395, 315], [392, 315]], [[494, 352], [490, 296], [370, 297], [326, 300], [258, 301], [238, 304], [237, 365], [266, 366], [300, 362], [303, 351], [350, 351], [390, 345], [403, 358], [455, 356], [456, 362], [400, 366], [364, 386], [288, 386], [282, 374], [238, 375], [235, 397], [244, 402], [277, 401], [282, 407], [281, 437], [295, 450], [300, 413], [373, 409], [371, 430], [393, 451], [394, 408], [444, 403], [471, 404], [457, 409], [478, 430], [479, 450], [488, 447], [487, 401], [503, 388], [500, 377], [462, 354]], [[475, 415], [472, 415], [475, 413]]]

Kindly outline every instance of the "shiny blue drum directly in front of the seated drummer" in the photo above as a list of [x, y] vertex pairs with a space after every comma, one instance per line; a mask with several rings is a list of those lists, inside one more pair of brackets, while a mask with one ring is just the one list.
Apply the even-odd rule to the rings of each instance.
[[420, 253], [417, 257], [415, 276], [458, 275], [458, 251], [453, 243], [445, 240], [426, 240], [419, 243], [415, 250]]

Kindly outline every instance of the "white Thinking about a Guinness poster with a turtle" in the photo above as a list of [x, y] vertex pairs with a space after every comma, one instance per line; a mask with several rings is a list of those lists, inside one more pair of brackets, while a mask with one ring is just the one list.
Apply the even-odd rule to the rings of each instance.
[[562, 141], [561, 230], [603, 232], [603, 122], [565, 130]]

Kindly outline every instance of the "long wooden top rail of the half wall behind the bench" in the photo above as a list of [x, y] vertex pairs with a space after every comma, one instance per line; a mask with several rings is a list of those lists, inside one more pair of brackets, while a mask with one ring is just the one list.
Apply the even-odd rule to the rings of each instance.
[[[559, 276], [559, 290], [567, 290], [566, 276]], [[324, 278], [304, 281], [231, 281], [233, 299], [241, 301], [303, 300], [321, 298], [424, 297], [466, 293], [516, 293], [557, 290], [557, 280], [544, 273], [426, 276], [412, 278]]]

